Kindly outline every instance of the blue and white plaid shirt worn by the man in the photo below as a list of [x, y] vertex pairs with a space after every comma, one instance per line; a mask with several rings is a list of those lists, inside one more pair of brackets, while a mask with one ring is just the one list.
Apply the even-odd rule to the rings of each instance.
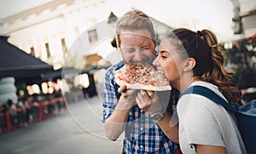
[[[119, 86], [114, 82], [113, 71], [122, 66], [124, 63], [121, 61], [106, 72], [102, 122], [111, 116], [119, 101]], [[147, 112], [138, 106], [131, 108], [125, 128], [124, 153], [174, 153], [174, 146]]]

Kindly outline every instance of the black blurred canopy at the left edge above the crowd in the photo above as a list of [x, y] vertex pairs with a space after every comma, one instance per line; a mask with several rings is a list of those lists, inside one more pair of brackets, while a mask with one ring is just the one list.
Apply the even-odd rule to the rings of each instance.
[[53, 71], [53, 66], [8, 43], [7, 39], [0, 36], [0, 77], [38, 78]]

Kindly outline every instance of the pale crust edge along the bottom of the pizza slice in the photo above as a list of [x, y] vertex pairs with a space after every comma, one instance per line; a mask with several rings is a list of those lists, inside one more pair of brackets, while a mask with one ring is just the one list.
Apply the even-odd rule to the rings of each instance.
[[119, 85], [126, 85], [127, 88], [131, 89], [144, 89], [144, 90], [150, 90], [150, 91], [167, 91], [167, 90], [172, 90], [171, 86], [153, 86], [153, 85], [143, 85], [141, 83], [125, 83], [122, 80], [119, 80], [118, 78], [115, 79], [115, 82]]

